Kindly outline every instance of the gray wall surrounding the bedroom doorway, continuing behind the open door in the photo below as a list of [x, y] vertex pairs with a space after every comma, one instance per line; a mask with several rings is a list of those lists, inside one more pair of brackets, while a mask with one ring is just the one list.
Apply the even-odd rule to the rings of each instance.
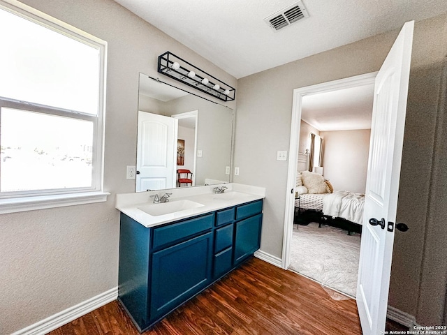
[[[444, 218], [441, 207], [446, 205], [435, 208], [437, 202], [430, 198], [445, 22], [445, 14], [416, 22], [397, 216], [410, 230], [396, 234], [390, 283], [390, 305], [425, 325], [442, 323], [446, 296], [447, 225], [431, 218]], [[276, 151], [288, 150], [293, 89], [379, 70], [397, 34], [360, 40], [238, 81], [235, 166], [240, 176], [234, 181], [267, 188], [261, 238], [265, 253], [281, 258], [288, 164], [276, 161]], [[445, 184], [444, 175], [438, 177]], [[447, 198], [446, 191], [439, 186], [438, 202]]]

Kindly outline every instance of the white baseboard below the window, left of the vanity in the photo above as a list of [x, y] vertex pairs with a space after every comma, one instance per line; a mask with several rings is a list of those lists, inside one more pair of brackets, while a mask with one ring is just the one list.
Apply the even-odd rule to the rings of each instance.
[[21, 329], [12, 335], [44, 335], [57, 329], [68, 322], [71, 322], [82, 315], [94, 311], [96, 308], [104, 306], [118, 297], [118, 288], [112, 288], [108, 291], [97, 295], [86, 301], [82, 301], [73, 307], [67, 308], [64, 311], [51, 315], [49, 318], [36, 322], [34, 325]]

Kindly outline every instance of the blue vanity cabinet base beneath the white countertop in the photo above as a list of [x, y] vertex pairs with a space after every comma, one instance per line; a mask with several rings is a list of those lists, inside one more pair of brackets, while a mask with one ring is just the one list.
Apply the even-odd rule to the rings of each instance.
[[121, 214], [118, 299], [140, 332], [259, 248], [262, 200], [145, 228]]

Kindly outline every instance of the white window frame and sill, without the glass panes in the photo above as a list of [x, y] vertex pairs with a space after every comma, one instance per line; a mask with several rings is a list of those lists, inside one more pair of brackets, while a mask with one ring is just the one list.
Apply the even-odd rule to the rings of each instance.
[[105, 202], [107, 196], [110, 195], [110, 193], [103, 191], [107, 42], [15, 0], [0, 0], [0, 10], [7, 10], [14, 15], [19, 15], [24, 18], [24, 20], [40, 24], [47, 29], [63, 34], [67, 38], [73, 38], [80, 43], [95, 47], [99, 51], [98, 110], [96, 115], [65, 110], [58, 107], [38, 105], [32, 102], [15, 101], [10, 98], [0, 98], [0, 107], [10, 107], [29, 112], [93, 121], [94, 149], [91, 164], [91, 186], [84, 188], [3, 192], [0, 193], [0, 214], [93, 202]]

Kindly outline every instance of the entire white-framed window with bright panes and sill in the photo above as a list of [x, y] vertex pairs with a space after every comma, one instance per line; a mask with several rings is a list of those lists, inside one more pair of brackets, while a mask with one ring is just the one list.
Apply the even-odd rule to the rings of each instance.
[[0, 213], [105, 201], [106, 43], [3, 1], [0, 40]]

